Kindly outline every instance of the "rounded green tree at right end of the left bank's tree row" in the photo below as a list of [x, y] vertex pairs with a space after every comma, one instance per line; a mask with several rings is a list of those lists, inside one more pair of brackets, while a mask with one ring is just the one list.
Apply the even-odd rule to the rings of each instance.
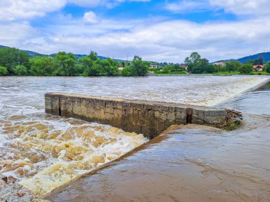
[[135, 55], [131, 62], [131, 76], [132, 77], [144, 77], [148, 74], [148, 62], [141, 60], [141, 57]]

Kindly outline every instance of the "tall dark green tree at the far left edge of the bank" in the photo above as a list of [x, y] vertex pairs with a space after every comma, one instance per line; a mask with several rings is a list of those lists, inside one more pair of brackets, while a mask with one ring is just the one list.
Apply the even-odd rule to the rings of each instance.
[[14, 74], [17, 65], [29, 67], [29, 56], [26, 52], [16, 48], [5, 47], [0, 49], [0, 66], [6, 67], [9, 74]]

